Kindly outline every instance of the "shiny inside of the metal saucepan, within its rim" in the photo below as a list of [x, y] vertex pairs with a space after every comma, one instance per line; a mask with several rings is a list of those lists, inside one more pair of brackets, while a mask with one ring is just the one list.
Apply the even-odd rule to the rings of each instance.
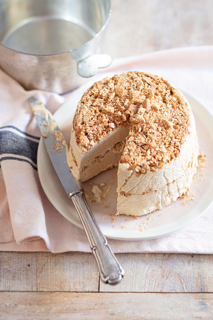
[[71, 51], [105, 24], [110, 0], [0, 0], [0, 42], [23, 53]]

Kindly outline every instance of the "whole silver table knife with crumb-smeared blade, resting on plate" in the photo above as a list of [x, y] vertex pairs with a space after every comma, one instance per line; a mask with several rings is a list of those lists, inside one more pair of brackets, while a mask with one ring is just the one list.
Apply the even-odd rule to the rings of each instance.
[[67, 144], [52, 114], [44, 104], [31, 97], [29, 105], [36, 118], [43, 141], [53, 167], [65, 189], [68, 198], [73, 202], [86, 232], [91, 250], [95, 256], [101, 280], [106, 284], [118, 284], [124, 276], [124, 269], [114, 256], [105, 236], [98, 226], [87, 203], [80, 180], [70, 172], [66, 160]]

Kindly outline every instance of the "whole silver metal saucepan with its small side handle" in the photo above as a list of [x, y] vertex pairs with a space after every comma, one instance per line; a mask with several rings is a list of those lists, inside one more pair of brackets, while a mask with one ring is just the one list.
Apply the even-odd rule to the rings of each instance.
[[110, 0], [0, 0], [0, 68], [27, 90], [59, 94], [107, 67]]

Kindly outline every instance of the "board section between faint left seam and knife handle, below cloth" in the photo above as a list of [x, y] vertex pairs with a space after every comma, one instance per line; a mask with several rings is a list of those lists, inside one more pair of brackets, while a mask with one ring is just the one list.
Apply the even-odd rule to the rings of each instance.
[[37, 253], [37, 291], [98, 292], [92, 253]]

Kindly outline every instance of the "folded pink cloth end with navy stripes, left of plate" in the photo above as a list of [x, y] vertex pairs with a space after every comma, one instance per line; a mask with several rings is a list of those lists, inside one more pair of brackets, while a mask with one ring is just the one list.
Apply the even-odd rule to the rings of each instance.
[[40, 132], [27, 101], [32, 95], [52, 113], [64, 101], [52, 92], [27, 92], [0, 70], [0, 242], [43, 239], [50, 248], [37, 172]]

